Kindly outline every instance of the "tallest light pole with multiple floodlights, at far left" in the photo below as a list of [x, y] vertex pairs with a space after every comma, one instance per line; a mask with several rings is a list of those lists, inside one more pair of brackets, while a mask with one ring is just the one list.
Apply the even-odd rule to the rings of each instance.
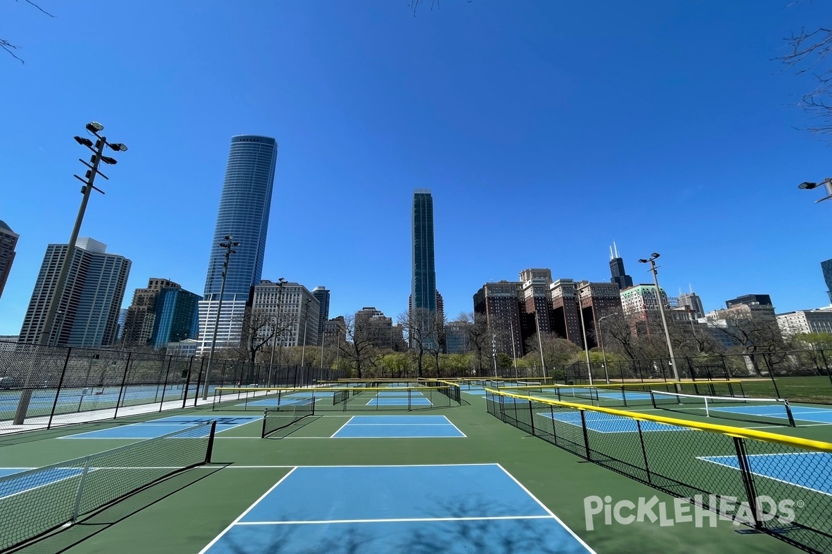
[[[87, 137], [75, 136], [73, 137], [75, 141], [82, 146], [87, 147], [87, 149], [92, 151], [92, 158], [87, 163], [83, 159], [78, 158], [82, 164], [86, 165], [89, 169], [87, 173], [84, 174], [84, 179], [78, 177], [77, 175], [72, 175], [79, 181], [81, 181], [84, 185], [81, 187], [81, 194], [83, 195], [81, 199], [81, 207], [78, 208], [78, 214], [75, 218], [75, 225], [72, 227], [72, 234], [69, 237], [69, 243], [67, 244], [67, 253], [63, 258], [61, 263], [61, 270], [58, 272], [57, 282], [55, 282], [55, 289], [52, 291], [52, 298], [49, 300], [49, 307], [47, 308], [47, 314], [43, 319], [43, 326], [41, 327], [41, 332], [37, 337], [37, 344], [41, 345], [48, 345], [50, 341], [50, 336], [52, 335], [52, 326], [55, 323], [55, 316], [57, 316], [58, 307], [61, 305], [61, 300], [63, 297], [63, 290], [64, 287], [67, 285], [67, 275], [69, 273], [69, 267], [72, 265], [72, 258], [75, 257], [75, 243], [78, 238], [78, 233], [81, 231], [81, 223], [84, 220], [84, 213], [87, 212], [87, 203], [90, 200], [90, 194], [92, 194], [92, 190], [95, 189], [101, 194], [104, 194], [102, 189], [98, 189], [93, 183], [96, 180], [96, 175], [101, 175], [104, 179], [109, 180], [105, 174], [102, 174], [101, 171], [98, 170], [98, 165], [101, 162], [104, 162], [108, 165], [115, 165], [116, 159], [110, 158], [104, 154], [104, 146], [109, 146], [111, 150], [115, 150], [116, 152], [126, 152], [127, 147], [118, 142], [107, 142], [106, 137], [99, 135], [98, 133], [104, 130], [104, 125], [97, 123], [96, 121], [92, 121], [91, 123], [87, 123], [86, 125], [87, 132], [90, 135], [96, 137], [96, 142], [93, 145], [92, 140], [87, 139]], [[57, 345], [57, 341], [56, 341]], [[22, 425], [23, 419], [26, 419], [26, 412], [29, 409], [29, 402], [32, 400], [32, 390], [28, 388], [29, 380], [32, 377], [32, 372], [30, 371], [26, 376], [26, 381], [24, 383], [24, 390], [20, 395], [20, 400], [17, 403], [17, 411], [14, 414], [14, 420], [12, 424], [14, 425]]]

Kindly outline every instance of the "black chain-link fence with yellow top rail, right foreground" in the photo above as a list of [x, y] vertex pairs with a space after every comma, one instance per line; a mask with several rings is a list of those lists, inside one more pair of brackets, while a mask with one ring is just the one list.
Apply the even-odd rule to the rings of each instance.
[[716, 527], [718, 518], [832, 552], [832, 444], [496, 390], [486, 400], [505, 423], [685, 499], [679, 522]]

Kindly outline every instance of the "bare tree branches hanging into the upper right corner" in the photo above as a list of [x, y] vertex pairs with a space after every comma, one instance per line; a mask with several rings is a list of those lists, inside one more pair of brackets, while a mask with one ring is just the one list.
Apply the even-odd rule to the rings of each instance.
[[810, 74], [815, 79], [815, 88], [802, 95], [798, 103], [818, 120], [817, 125], [808, 126], [807, 130], [829, 140], [832, 136], [832, 27], [817, 27], [812, 31], [801, 28], [785, 41], [788, 53], [778, 59], [798, 75]]

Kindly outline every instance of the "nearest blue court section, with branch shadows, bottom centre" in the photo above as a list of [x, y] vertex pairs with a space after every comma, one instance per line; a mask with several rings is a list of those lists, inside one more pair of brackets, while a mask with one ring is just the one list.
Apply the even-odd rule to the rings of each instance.
[[593, 551], [501, 466], [471, 464], [293, 468], [200, 554], [255, 552]]

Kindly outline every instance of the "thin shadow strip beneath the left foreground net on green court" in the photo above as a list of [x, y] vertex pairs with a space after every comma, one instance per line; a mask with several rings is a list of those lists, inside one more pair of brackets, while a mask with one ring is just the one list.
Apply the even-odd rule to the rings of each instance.
[[21, 547], [4, 552], [15, 552], [16, 554], [57, 554], [58, 552], [65, 552], [127, 517], [141, 512], [146, 507], [151, 507], [161, 502], [161, 500], [190, 487], [192, 484], [210, 477], [227, 467], [227, 465], [217, 464], [216, 467], [209, 466], [207, 468], [203, 466], [202, 468], [192, 468], [182, 473], [176, 473], [163, 481], [152, 484], [150, 487], [142, 488], [110, 506], [88, 514], [72, 527], [53, 531]]

